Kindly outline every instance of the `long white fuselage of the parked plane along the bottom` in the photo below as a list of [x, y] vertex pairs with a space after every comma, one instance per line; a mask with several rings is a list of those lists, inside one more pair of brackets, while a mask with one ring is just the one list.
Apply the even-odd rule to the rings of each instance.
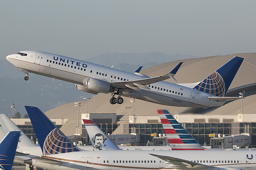
[[[221, 168], [256, 169], [256, 151], [81, 151], [45, 156], [67, 163], [44, 164], [47, 169], [175, 169], [170, 163], [150, 154], [171, 156]], [[40, 162], [33, 162], [34, 165]], [[41, 164], [42, 165], [42, 164]]]

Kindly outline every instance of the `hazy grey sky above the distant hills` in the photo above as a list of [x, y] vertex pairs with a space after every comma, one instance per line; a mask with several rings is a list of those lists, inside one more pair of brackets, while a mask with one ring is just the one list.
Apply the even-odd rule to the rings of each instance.
[[22, 50], [79, 59], [107, 52], [256, 52], [256, 1], [3, 1], [1, 59]]

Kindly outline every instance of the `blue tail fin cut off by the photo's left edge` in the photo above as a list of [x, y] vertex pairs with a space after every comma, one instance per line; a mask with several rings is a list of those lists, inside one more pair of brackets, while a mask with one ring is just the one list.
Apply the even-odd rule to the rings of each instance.
[[0, 169], [11, 170], [20, 132], [9, 132], [0, 143]]

